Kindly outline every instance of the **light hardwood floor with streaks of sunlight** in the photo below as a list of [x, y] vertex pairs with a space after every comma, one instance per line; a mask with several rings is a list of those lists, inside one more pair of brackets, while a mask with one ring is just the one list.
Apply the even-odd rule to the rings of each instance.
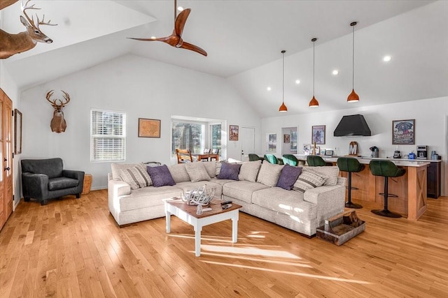
[[[274, 199], [273, 199], [274, 200]], [[0, 232], [0, 297], [448, 297], [448, 198], [416, 222], [358, 209], [335, 246], [240, 213], [194, 231], [172, 217], [118, 228], [107, 191], [20, 202]]]

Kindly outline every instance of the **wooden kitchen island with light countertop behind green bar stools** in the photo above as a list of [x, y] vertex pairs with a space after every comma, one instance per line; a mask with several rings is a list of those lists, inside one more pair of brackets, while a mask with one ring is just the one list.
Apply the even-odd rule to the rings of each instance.
[[[306, 160], [304, 155], [296, 155], [300, 160]], [[327, 163], [336, 165], [337, 156], [321, 156]], [[350, 157], [350, 156], [349, 156]], [[398, 195], [398, 198], [389, 198], [388, 209], [402, 214], [409, 221], [416, 221], [427, 209], [427, 168], [429, 161], [402, 160], [393, 158], [367, 158], [357, 157], [358, 161], [365, 165], [365, 169], [351, 174], [352, 187], [351, 198], [362, 204], [362, 201], [374, 202], [379, 207], [384, 204], [384, 178], [374, 176], [370, 172], [369, 163], [372, 159], [392, 161], [398, 167], [406, 170], [402, 177], [389, 178], [388, 192]], [[347, 177], [346, 172], [340, 172], [342, 177]]]

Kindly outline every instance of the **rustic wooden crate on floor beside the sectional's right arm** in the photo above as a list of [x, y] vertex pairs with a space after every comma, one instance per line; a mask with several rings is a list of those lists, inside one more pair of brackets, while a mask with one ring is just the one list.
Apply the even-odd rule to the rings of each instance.
[[316, 229], [316, 237], [329, 241], [337, 246], [344, 244], [365, 230], [365, 221], [350, 210], [325, 220], [325, 225]]

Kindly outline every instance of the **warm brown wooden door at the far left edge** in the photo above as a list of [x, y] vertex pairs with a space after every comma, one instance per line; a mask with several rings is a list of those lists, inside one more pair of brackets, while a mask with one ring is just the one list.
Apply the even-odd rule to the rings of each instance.
[[13, 102], [0, 89], [0, 229], [13, 213]]

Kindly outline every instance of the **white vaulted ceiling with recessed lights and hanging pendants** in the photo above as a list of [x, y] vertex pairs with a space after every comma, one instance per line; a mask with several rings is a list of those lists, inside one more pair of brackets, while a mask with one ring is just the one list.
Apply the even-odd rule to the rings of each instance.
[[[320, 111], [448, 96], [448, 1], [179, 0], [178, 6], [192, 10], [183, 38], [207, 57], [127, 38], [172, 33], [174, 1], [32, 2], [58, 25], [41, 26], [53, 43], [4, 60], [22, 90], [130, 53], [228, 78], [260, 116], [272, 117], [283, 96], [286, 50], [284, 99], [288, 114], [300, 114], [310, 111], [316, 37]], [[1, 29], [24, 31], [20, 14], [19, 2], [1, 10]], [[360, 102], [350, 105], [353, 21]], [[384, 55], [391, 61], [382, 61]]]

